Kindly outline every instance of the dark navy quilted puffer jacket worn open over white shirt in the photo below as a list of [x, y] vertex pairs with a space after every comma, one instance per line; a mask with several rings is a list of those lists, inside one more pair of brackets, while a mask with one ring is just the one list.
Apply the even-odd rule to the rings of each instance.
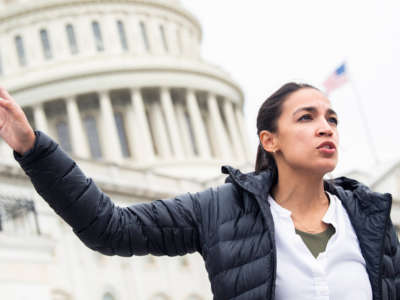
[[[43, 133], [15, 155], [39, 194], [91, 249], [106, 255], [182, 255], [205, 260], [214, 299], [273, 299], [274, 224], [271, 174], [230, 167], [227, 183], [170, 200], [115, 206]], [[400, 249], [389, 218], [391, 196], [339, 178], [325, 188], [341, 199], [358, 237], [374, 300], [400, 299]]]

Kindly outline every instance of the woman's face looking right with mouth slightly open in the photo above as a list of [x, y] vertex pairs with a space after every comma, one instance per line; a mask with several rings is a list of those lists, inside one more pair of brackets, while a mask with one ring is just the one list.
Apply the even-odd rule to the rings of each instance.
[[328, 98], [312, 88], [292, 93], [283, 103], [275, 134], [278, 168], [324, 175], [338, 161], [337, 115]]

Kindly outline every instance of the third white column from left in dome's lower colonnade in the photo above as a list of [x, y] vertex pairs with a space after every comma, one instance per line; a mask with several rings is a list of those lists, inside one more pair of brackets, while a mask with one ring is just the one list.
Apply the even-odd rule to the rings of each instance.
[[99, 93], [101, 114], [101, 135], [104, 158], [109, 161], [121, 161], [121, 143], [118, 138], [117, 126], [115, 124], [114, 112], [111, 99], [107, 91]]

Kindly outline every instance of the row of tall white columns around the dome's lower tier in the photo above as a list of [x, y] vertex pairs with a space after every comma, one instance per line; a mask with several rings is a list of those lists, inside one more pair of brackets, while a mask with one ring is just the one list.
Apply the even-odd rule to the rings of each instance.
[[[92, 104], [86, 103], [86, 95]], [[78, 158], [139, 164], [192, 158], [252, 160], [241, 107], [215, 92], [165, 85], [107, 89], [63, 101], [66, 114], [54, 111], [57, 116], [46, 115], [44, 107], [51, 101], [31, 106], [35, 129], [59, 135], [54, 138], [69, 145], [68, 151]], [[64, 122], [69, 136], [65, 129], [59, 131], [57, 122]], [[97, 155], [92, 149], [93, 126], [99, 132]]]

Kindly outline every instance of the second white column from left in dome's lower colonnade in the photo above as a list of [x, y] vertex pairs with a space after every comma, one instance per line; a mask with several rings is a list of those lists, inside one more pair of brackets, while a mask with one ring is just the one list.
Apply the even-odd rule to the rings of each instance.
[[71, 137], [72, 152], [83, 158], [90, 157], [88, 141], [85, 136], [82, 119], [79, 114], [78, 104], [74, 96], [66, 98], [69, 135]]

